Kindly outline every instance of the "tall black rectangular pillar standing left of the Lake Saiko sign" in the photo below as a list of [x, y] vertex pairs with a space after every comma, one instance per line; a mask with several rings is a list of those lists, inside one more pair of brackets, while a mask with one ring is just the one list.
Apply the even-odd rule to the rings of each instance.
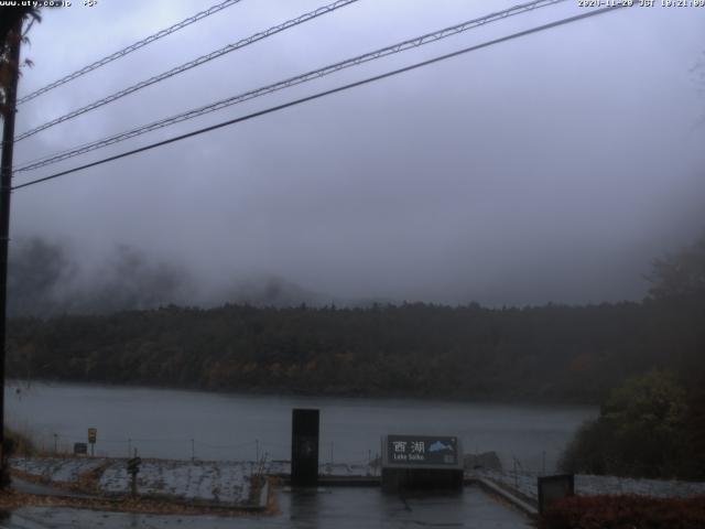
[[318, 410], [292, 410], [291, 484], [318, 485]]

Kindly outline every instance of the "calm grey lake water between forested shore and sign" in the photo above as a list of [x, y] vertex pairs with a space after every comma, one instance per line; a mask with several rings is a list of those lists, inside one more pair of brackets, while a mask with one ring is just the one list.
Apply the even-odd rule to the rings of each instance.
[[[18, 391], [19, 389], [19, 391]], [[96, 455], [251, 461], [291, 454], [292, 408], [321, 409], [319, 461], [366, 463], [383, 434], [456, 435], [465, 453], [496, 451], [506, 467], [552, 471], [594, 407], [417, 399], [278, 397], [75, 384], [9, 382], [9, 424], [45, 450], [98, 430]]]

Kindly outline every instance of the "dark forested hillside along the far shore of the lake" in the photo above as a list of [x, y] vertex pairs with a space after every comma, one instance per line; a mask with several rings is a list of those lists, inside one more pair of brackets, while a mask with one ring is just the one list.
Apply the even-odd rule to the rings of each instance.
[[627, 376], [687, 377], [702, 298], [488, 310], [169, 306], [13, 320], [9, 377], [231, 391], [596, 402]]

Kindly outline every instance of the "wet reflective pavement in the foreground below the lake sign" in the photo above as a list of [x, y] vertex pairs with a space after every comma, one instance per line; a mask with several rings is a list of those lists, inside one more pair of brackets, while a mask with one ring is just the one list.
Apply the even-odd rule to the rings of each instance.
[[456, 495], [384, 495], [379, 488], [321, 488], [279, 490], [279, 514], [219, 518], [214, 516], [156, 516], [97, 512], [76, 509], [26, 508], [15, 511], [0, 527], [8, 529], [225, 529], [238, 527], [291, 528], [399, 528], [460, 527], [514, 529], [531, 527], [518, 510], [488, 496], [477, 486]]

